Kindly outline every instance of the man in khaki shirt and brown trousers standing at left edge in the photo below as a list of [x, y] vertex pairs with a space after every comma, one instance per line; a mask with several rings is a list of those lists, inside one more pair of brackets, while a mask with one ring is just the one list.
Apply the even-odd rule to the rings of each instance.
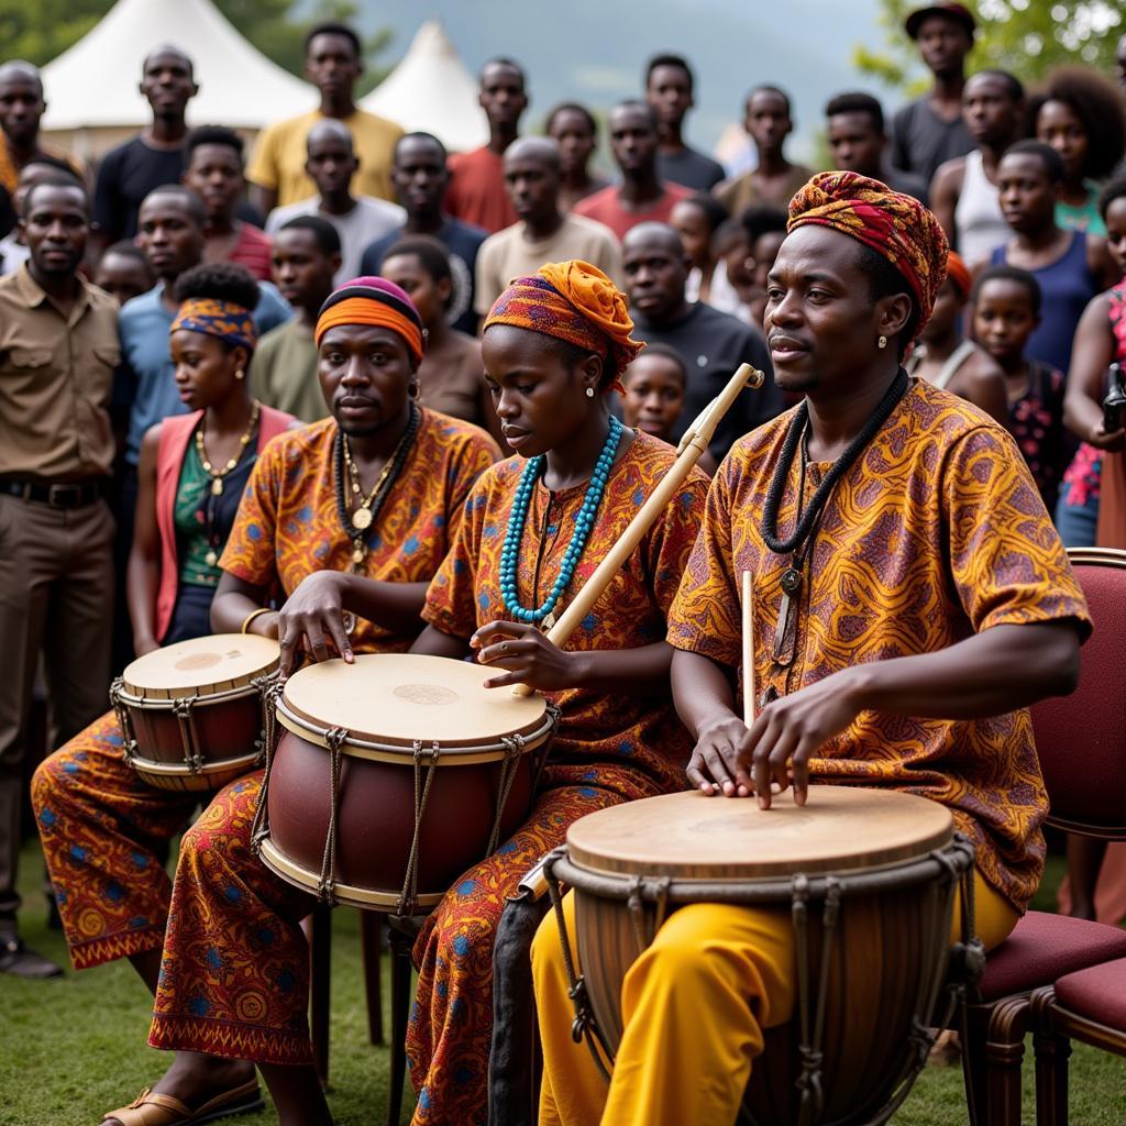
[[[16, 928], [32, 681], [42, 651], [51, 745], [106, 711], [114, 521], [107, 406], [117, 303], [77, 270], [89, 202], [60, 172], [24, 200], [30, 260], [0, 278], [0, 973], [62, 971]], [[75, 863], [96, 858], [75, 857]]]

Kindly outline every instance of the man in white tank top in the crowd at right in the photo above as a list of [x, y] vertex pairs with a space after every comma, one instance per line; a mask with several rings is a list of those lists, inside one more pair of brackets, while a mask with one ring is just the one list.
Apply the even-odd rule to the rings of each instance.
[[930, 197], [947, 238], [973, 269], [1009, 238], [997, 167], [1004, 150], [1020, 136], [1025, 90], [1007, 71], [978, 71], [966, 82], [962, 105], [977, 148], [939, 168]]

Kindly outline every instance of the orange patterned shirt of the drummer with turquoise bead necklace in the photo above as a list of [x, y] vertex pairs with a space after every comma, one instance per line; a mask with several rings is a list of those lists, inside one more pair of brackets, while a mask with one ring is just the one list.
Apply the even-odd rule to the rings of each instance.
[[[582, 558], [555, 609], [566, 608], [579, 588], [625, 530], [645, 498], [676, 461], [676, 450], [645, 434], [610, 472]], [[511, 620], [500, 593], [500, 554], [525, 462], [511, 457], [477, 482], [449, 557], [427, 592], [422, 616], [443, 633], [470, 637], [497, 619]], [[547, 597], [571, 542], [586, 484], [557, 492], [540, 479], [520, 543], [517, 590], [520, 605]], [[640, 649], [663, 640], [668, 610], [696, 539], [707, 477], [694, 470], [664, 513], [564, 646], [568, 650]], [[655, 783], [654, 793], [683, 789], [691, 740], [672, 708], [669, 687], [649, 697], [572, 688], [545, 692], [562, 716], [552, 743], [548, 785], [613, 784], [615, 765]]]

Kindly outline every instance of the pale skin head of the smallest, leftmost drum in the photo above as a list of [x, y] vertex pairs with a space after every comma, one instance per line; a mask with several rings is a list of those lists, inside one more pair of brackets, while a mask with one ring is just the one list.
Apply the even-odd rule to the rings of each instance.
[[128, 664], [122, 679], [134, 696], [168, 699], [242, 688], [278, 665], [280, 646], [260, 634], [213, 634], [153, 650]]

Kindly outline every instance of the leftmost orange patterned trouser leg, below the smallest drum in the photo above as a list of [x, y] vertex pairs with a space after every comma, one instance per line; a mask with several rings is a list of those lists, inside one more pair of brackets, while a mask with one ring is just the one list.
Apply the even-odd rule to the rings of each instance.
[[143, 781], [113, 712], [39, 765], [32, 804], [75, 969], [160, 949], [172, 886], [161, 854], [200, 796]]

